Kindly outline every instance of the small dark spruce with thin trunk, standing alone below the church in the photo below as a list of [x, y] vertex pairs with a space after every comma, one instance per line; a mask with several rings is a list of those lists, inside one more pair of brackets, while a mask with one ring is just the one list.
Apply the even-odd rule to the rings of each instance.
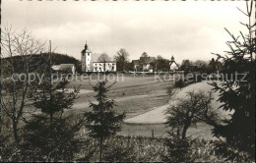
[[94, 86], [94, 90], [97, 92], [95, 98], [97, 104], [92, 103], [90, 107], [93, 111], [87, 112], [86, 115], [86, 128], [89, 130], [89, 136], [96, 138], [99, 143], [99, 160], [102, 159], [102, 145], [104, 140], [109, 136], [114, 136], [121, 130], [121, 123], [125, 118], [125, 113], [116, 114], [113, 109], [115, 102], [113, 99], [107, 99], [107, 92], [112, 86], [106, 86], [107, 81], [98, 81]]

